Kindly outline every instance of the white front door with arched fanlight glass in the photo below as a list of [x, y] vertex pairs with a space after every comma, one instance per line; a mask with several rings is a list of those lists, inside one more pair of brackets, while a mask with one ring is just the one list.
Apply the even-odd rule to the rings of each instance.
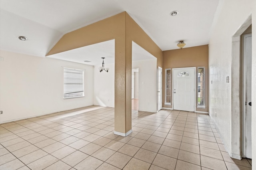
[[172, 69], [174, 110], [194, 111], [195, 71], [195, 67]]

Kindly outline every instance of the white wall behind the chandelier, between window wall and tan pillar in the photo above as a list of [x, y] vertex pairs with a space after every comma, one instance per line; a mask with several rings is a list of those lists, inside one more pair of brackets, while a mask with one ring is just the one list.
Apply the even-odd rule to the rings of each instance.
[[94, 67], [94, 100], [93, 104], [98, 106], [115, 107], [115, 65], [105, 63], [109, 67], [108, 73]]

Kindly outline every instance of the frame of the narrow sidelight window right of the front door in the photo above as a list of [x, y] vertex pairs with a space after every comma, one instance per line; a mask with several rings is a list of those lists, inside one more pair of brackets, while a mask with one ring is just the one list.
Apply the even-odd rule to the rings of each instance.
[[[199, 69], [203, 69], [204, 70], [204, 74], [200, 74], [200, 76], [201, 75], [203, 75], [203, 81], [199, 81], [199, 79], [198, 79], [198, 76], [199, 76]], [[205, 67], [197, 67], [197, 80], [196, 80], [196, 82], [197, 82], [197, 90], [196, 90], [196, 96], [197, 96], [197, 100], [196, 100], [196, 107], [197, 108], [202, 108], [202, 109], [205, 109]], [[198, 89], [199, 89], [199, 83], [200, 82], [203, 82], [203, 88], [201, 87], [201, 85], [200, 85], [200, 91], [201, 90], [203, 90], [204, 91], [204, 94], [203, 94], [203, 97], [201, 97], [200, 96], [200, 100], [203, 98], [204, 99], [204, 105], [199, 105], [199, 103], [198, 103], [198, 99], [199, 99], [199, 95], [198, 95]]]

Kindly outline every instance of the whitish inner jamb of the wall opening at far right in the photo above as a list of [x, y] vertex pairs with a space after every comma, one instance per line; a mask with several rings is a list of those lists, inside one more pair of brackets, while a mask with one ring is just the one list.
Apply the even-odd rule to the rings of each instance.
[[[238, 23], [237, 23], [238, 24]], [[231, 47], [231, 128], [230, 140], [223, 140], [224, 146], [231, 158], [242, 159], [242, 61], [241, 61], [241, 36], [246, 29], [252, 24], [252, 16], [250, 15], [243, 23], [239, 23], [239, 27], [232, 36]], [[238, 97], [240, 100], [238, 100]], [[221, 136], [222, 137], [222, 136]], [[222, 137], [223, 138], [223, 137]], [[231, 144], [227, 144], [227, 142]]]

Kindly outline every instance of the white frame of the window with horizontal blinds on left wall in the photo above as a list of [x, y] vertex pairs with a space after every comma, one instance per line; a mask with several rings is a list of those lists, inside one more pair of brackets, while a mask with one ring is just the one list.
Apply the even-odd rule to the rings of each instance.
[[[67, 92], [68, 90], [67, 90], [67, 83], [66, 83], [66, 79], [67, 79], [67, 77], [65, 77], [66, 76], [66, 72], [67, 71], [74, 71], [74, 72], [76, 72], [76, 73], [78, 73], [78, 74], [81, 74], [81, 75], [79, 75], [79, 77], [78, 77], [78, 79], [76, 80], [76, 81], [74, 81], [73, 83], [82, 83], [82, 85], [80, 85], [80, 86], [82, 86], [82, 88], [80, 88], [81, 89], [81, 91], [79, 91], [79, 92], [75, 92], [75, 91], [73, 91], [73, 93], [72, 93], [72, 90], [71, 90], [71, 93], [65, 93], [65, 91]], [[66, 86], [66, 87], [65, 87]], [[79, 88], [78, 88], [79, 89]], [[78, 96], [71, 96], [71, 97], [65, 97], [65, 95], [67, 95], [67, 94], [70, 94], [70, 95], [75, 95], [75, 94], [77, 94], [77, 93], [80, 93], [81, 95], [78, 95]], [[81, 70], [81, 69], [73, 69], [73, 68], [67, 68], [67, 67], [63, 67], [63, 99], [70, 99], [70, 98], [77, 98], [77, 97], [84, 97], [84, 70]]]

